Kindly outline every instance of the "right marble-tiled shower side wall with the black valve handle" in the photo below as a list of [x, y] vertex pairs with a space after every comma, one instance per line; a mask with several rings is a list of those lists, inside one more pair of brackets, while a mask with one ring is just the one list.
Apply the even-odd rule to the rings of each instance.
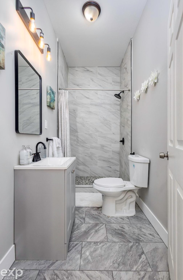
[[131, 153], [131, 41], [128, 45], [120, 66], [120, 89], [130, 89], [124, 92], [120, 102], [120, 139], [124, 137], [124, 145], [120, 145], [120, 177], [130, 180], [128, 155]]

